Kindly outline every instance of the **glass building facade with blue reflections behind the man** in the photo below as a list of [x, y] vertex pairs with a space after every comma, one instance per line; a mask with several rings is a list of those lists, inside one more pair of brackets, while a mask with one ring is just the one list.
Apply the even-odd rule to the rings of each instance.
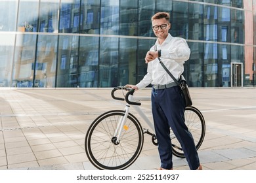
[[0, 87], [137, 84], [151, 17], [190, 46], [190, 87], [253, 87], [256, 0], [0, 0]]

